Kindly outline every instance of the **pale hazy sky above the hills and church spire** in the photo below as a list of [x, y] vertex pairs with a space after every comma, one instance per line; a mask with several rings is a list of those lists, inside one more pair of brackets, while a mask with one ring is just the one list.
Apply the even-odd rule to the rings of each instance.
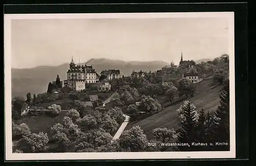
[[228, 54], [227, 18], [12, 19], [12, 68], [75, 63], [214, 59]]

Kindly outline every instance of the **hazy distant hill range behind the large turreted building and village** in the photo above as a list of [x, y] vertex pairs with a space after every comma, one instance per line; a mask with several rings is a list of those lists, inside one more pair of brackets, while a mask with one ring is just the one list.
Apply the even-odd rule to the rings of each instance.
[[[84, 65], [80, 63], [80, 65]], [[120, 69], [121, 76], [129, 76], [132, 74], [133, 70], [139, 71], [143, 70], [148, 72], [149, 70], [158, 70], [162, 66], [168, 65], [168, 63], [163, 61], [120, 61], [120, 60], [110, 60], [105, 58], [100, 59], [90, 59], [87, 65], [93, 65], [98, 74], [105, 69]], [[58, 66], [37, 66], [34, 68], [24, 68], [17, 69], [12, 68], [12, 96], [25, 96], [26, 93], [31, 92], [33, 95], [46, 92], [48, 83], [56, 79], [59, 75], [61, 80], [67, 79], [67, 70], [69, 68], [69, 63], [61, 64]]]

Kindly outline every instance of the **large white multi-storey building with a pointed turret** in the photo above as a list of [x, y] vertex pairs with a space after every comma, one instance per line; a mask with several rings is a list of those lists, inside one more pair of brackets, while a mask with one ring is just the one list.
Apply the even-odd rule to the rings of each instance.
[[76, 65], [73, 61], [69, 64], [67, 72], [67, 80], [64, 80], [64, 86], [68, 86], [73, 90], [86, 89], [86, 83], [95, 83], [97, 74], [92, 66]]

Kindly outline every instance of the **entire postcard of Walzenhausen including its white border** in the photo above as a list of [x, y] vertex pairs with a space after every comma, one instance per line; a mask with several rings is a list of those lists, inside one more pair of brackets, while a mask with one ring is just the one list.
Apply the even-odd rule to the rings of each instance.
[[236, 156], [233, 12], [4, 19], [6, 159]]

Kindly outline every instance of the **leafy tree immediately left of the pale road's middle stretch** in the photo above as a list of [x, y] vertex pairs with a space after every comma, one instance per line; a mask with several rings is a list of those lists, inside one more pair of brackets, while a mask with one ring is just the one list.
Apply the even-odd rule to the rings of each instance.
[[113, 118], [111, 118], [110, 115], [105, 114], [102, 119], [101, 127], [106, 132], [113, 134], [113, 132], [116, 131], [116, 129], [118, 127], [118, 123]]

